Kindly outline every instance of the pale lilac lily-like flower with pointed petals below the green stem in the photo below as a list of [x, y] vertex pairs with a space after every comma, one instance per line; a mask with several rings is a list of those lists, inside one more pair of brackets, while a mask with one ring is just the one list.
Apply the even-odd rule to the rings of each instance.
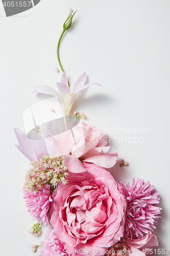
[[50, 94], [53, 96], [58, 97], [63, 103], [63, 110], [64, 115], [68, 116], [72, 107], [72, 104], [76, 100], [76, 98], [84, 92], [88, 87], [93, 86], [94, 84], [98, 84], [98, 86], [101, 86], [100, 83], [89, 83], [85, 84], [85, 81], [87, 79], [87, 75], [84, 72], [71, 86], [71, 88], [68, 87], [68, 79], [66, 72], [64, 71], [61, 77], [61, 82], [57, 82], [57, 89], [54, 90], [51, 87], [48, 86], [37, 86], [32, 93], [45, 93]]

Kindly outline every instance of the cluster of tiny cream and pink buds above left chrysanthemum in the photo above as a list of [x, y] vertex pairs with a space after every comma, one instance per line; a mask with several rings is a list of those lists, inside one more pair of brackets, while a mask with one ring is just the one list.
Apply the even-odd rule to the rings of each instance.
[[31, 162], [33, 166], [26, 174], [25, 187], [31, 191], [37, 191], [42, 185], [51, 184], [54, 188], [60, 183], [66, 184], [67, 167], [63, 163], [63, 156], [45, 155]]

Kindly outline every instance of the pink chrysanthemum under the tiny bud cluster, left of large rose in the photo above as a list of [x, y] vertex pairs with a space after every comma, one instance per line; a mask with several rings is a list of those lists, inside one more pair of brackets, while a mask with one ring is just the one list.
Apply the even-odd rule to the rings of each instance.
[[46, 184], [35, 193], [29, 192], [26, 187], [23, 187], [23, 193], [25, 194], [23, 198], [26, 199], [26, 206], [29, 208], [30, 215], [45, 225], [49, 223], [50, 215], [48, 211], [50, 209], [50, 202], [53, 201], [50, 188], [51, 185]]

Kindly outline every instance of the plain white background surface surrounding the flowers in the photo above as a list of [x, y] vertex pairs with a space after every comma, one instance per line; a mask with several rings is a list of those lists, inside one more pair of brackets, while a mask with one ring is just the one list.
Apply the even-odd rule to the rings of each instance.
[[[70, 7], [78, 12], [61, 42], [63, 68], [70, 82], [85, 71], [88, 82], [102, 84], [87, 89], [72, 111], [83, 111], [86, 123], [119, 140], [110, 143], [119, 156], [111, 169], [117, 181], [139, 177], [155, 185], [163, 210], [154, 233], [158, 248], [170, 248], [170, 1], [41, 0], [8, 18], [0, 3], [1, 255], [32, 255], [31, 245], [45, 233], [35, 238], [27, 232], [36, 223], [22, 198], [29, 160], [15, 147], [13, 128], [24, 130], [23, 111], [49, 97], [32, 90], [60, 81], [56, 45]], [[129, 166], [120, 168], [121, 159]]]

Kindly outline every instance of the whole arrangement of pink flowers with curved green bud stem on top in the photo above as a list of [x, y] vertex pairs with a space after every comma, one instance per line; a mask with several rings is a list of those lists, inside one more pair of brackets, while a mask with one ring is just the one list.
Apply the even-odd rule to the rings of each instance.
[[[159, 193], [149, 181], [133, 179], [120, 184], [105, 168], [117, 161], [108, 151], [106, 133], [87, 125], [84, 113], [71, 112], [76, 98], [90, 86], [83, 73], [69, 84], [59, 57], [60, 41], [71, 26], [76, 12], [70, 11], [57, 45], [63, 72], [57, 91], [38, 86], [33, 93], [54, 96], [58, 115], [54, 120], [36, 123], [27, 135], [15, 129], [18, 150], [31, 161], [26, 173], [23, 195], [30, 215], [38, 221], [30, 229], [35, 236], [41, 226], [49, 225], [40, 248], [41, 256], [52, 255], [154, 255], [158, 240], [152, 233], [160, 218]], [[56, 72], [59, 70], [56, 69]], [[42, 102], [43, 103], [43, 102]], [[30, 112], [34, 116], [33, 108]], [[60, 121], [59, 121], [60, 119]], [[121, 166], [128, 166], [122, 160]]]

